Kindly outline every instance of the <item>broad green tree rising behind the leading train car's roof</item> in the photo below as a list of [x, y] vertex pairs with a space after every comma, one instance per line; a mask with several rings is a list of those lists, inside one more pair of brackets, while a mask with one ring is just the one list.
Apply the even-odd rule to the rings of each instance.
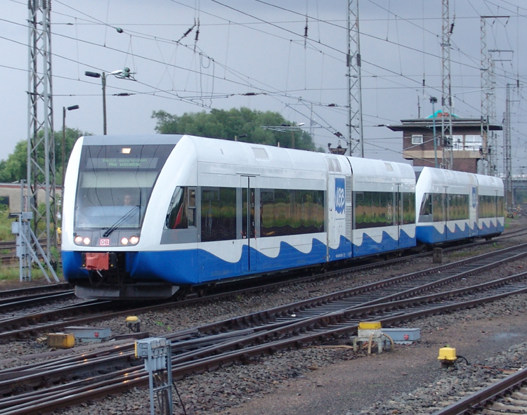
[[[278, 112], [261, 112], [242, 107], [239, 110], [211, 110], [210, 112], [186, 112], [179, 116], [165, 111], [152, 112], [157, 119], [155, 130], [161, 134], [190, 134], [223, 140], [245, 141], [293, 147], [302, 150], [315, 150], [311, 136], [305, 131], [273, 131], [262, 126], [292, 126]], [[322, 151], [321, 149], [316, 149]]]

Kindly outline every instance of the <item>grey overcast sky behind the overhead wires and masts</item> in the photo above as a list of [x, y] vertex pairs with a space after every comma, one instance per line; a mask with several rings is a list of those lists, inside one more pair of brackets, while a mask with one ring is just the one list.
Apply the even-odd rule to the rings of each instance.
[[[0, 159], [6, 159], [27, 139], [28, 11], [27, 1], [2, 4]], [[441, 4], [359, 0], [366, 157], [403, 161], [402, 133], [379, 125], [426, 117], [431, 96], [441, 103]], [[335, 132], [347, 138], [348, 1], [51, 0], [51, 6], [56, 131], [63, 107], [79, 105], [67, 112], [67, 126], [102, 134], [100, 79], [84, 72], [129, 67], [136, 81], [108, 77], [108, 134], [153, 133], [157, 110], [249, 107], [304, 123], [322, 147], [338, 144]], [[511, 90], [512, 164], [527, 173], [524, 1], [450, 1], [454, 112], [481, 117], [481, 15], [509, 16], [486, 20], [487, 45], [501, 51], [493, 53], [499, 123], [505, 86], [520, 84]]]

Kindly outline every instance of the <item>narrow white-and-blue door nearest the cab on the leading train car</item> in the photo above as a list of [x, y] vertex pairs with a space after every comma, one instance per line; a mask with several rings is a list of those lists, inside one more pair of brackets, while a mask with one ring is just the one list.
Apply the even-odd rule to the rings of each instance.
[[241, 200], [241, 234], [242, 245], [242, 272], [256, 270], [256, 215], [254, 206], [256, 204], [256, 177], [241, 176], [242, 200]]

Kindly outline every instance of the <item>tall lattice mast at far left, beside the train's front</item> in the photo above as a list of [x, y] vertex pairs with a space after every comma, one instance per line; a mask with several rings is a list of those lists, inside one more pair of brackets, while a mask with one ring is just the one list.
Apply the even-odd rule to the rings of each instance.
[[[29, 79], [27, 132], [27, 210], [46, 255], [56, 244], [56, 173], [51, 83], [51, 0], [28, 1]], [[44, 195], [44, 201], [39, 197]], [[44, 211], [39, 205], [45, 203]], [[44, 225], [43, 225], [44, 224]]]

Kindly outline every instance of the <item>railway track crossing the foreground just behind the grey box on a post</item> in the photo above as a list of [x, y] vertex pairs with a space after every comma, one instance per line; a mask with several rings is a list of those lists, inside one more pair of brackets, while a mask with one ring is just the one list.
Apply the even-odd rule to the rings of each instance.
[[[257, 318], [247, 315], [176, 332], [167, 336], [173, 343], [174, 378], [233, 362], [248, 362], [262, 353], [343, 338], [349, 341], [358, 322], [363, 320], [379, 320], [387, 325], [524, 293], [526, 278], [527, 273], [522, 273], [487, 284], [375, 305], [366, 302], [337, 306], [314, 299], [308, 308], [295, 303], [263, 311]], [[0, 399], [0, 414], [38, 414], [145, 386], [148, 376], [143, 362], [134, 359], [133, 347], [133, 343], [121, 343], [111, 349], [0, 371], [0, 395], [4, 396]], [[25, 392], [27, 388], [30, 390]]]

